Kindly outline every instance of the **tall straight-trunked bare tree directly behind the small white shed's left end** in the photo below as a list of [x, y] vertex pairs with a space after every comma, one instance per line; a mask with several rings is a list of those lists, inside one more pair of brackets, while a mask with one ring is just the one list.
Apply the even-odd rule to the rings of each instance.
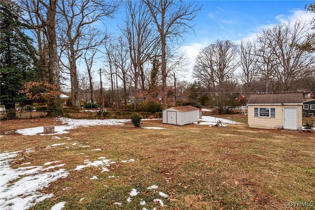
[[173, 0], [145, 0], [157, 26], [161, 44], [161, 71], [162, 71], [162, 104], [167, 108], [167, 70], [166, 45], [175, 43], [192, 29], [189, 25], [197, 12], [201, 9], [195, 2]]

